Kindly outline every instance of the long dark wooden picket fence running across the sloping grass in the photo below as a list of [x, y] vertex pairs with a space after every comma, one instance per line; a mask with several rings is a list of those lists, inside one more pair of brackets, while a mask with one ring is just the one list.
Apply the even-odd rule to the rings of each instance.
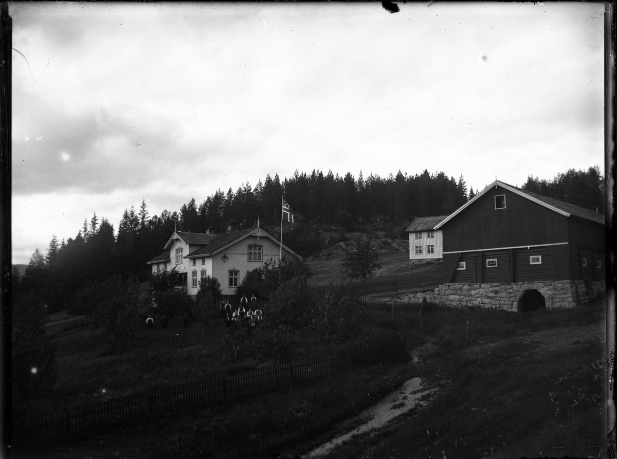
[[213, 400], [270, 391], [293, 382], [376, 365], [404, 354], [406, 344], [405, 336], [398, 335], [354, 350], [342, 349], [297, 358], [291, 363], [273, 363], [242, 373], [213, 376], [68, 408], [27, 421], [16, 421], [12, 424], [12, 447], [86, 437], [135, 419], [167, 415], [173, 411], [190, 411]]

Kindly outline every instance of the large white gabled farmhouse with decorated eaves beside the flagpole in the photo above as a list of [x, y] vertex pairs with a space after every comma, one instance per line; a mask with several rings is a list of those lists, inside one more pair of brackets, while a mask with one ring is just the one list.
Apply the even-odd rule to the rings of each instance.
[[[299, 257], [283, 245], [283, 256]], [[174, 231], [165, 244], [165, 252], [152, 258], [152, 273], [178, 271], [181, 286], [193, 296], [205, 276], [218, 279], [223, 295], [235, 295], [236, 287], [247, 272], [259, 268], [266, 260], [280, 261], [280, 243], [259, 226], [236, 229], [228, 223], [221, 234]]]

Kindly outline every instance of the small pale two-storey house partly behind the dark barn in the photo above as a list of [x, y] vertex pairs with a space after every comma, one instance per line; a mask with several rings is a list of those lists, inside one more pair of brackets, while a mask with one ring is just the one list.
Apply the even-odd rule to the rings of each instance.
[[434, 229], [449, 215], [416, 217], [407, 227], [409, 233], [409, 259], [430, 260], [442, 258], [444, 237], [441, 229]]

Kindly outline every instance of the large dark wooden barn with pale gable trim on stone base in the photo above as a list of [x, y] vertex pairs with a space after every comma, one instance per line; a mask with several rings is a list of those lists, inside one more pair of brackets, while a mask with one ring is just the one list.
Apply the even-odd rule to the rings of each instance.
[[573, 307], [603, 289], [604, 215], [592, 210], [495, 181], [435, 229], [450, 296], [491, 293], [481, 303], [520, 310], [525, 292]]

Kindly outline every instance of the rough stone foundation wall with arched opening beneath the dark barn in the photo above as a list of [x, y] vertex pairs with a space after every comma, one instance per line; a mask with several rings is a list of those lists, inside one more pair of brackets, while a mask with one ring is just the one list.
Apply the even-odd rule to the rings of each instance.
[[[581, 285], [577, 285], [581, 283]], [[584, 281], [535, 281], [515, 283], [458, 283], [442, 284], [432, 291], [380, 297], [379, 301], [417, 304], [425, 298], [428, 302], [452, 307], [497, 307], [508, 311], [518, 310], [518, 300], [526, 290], [537, 290], [546, 307], [575, 308], [594, 299], [603, 292], [604, 283]], [[578, 290], [578, 291], [577, 291]], [[593, 297], [588, 294], [594, 295]]]

